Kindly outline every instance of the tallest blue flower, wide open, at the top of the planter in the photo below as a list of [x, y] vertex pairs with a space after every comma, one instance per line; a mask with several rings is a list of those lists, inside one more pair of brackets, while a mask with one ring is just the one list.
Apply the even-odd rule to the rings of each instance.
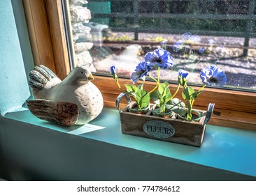
[[171, 54], [162, 48], [155, 49], [154, 52], [145, 54], [145, 61], [148, 61], [152, 66], [157, 65], [157, 67], [164, 69], [173, 67]]

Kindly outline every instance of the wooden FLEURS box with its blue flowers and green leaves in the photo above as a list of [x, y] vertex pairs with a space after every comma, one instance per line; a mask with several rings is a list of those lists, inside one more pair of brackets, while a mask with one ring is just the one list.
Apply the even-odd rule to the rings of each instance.
[[[171, 95], [169, 83], [160, 83], [159, 72], [160, 68], [166, 70], [172, 67], [173, 59], [171, 58], [170, 53], [165, 49], [155, 49], [155, 51], [148, 52], [145, 55], [145, 61], [139, 63], [136, 70], [132, 72], [131, 81], [136, 84], [139, 79], [145, 81], [145, 77], [151, 78], [153, 81], [155, 81], [156, 86], [149, 92], [144, 91], [144, 83], [138, 86], [125, 85], [127, 91], [122, 90], [120, 84], [118, 83], [118, 76], [115, 72], [115, 66], [111, 67], [111, 75], [122, 91], [116, 100], [116, 106], [120, 111], [122, 133], [183, 143], [190, 146], [201, 146], [206, 129], [206, 123], [211, 118], [214, 104], [209, 104], [207, 111], [199, 111], [200, 116], [197, 121], [192, 120], [192, 114], [194, 112], [192, 107], [194, 101], [197, 99], [197, 96], [201, 93], [204, 87], [207, 85], [222, 86], [226, 83], [227, 79], [225, 73], [216, 65], [211, 65], [210, 67], [204, 68], [201, 70], [200, 74], [204, 86], [202, 86], [199, 91], [194, 91], [192, 87], [187, 85], [186, 78], [187, 75], [189, 75], [189, 72], [186, 70], [179, 70], [178, 85], [175, 93]], [[157, 79], [150, 77], [149, 75], [149, 72], [154, 68], [157, 69]], [[180, 86], [183, 86], [182, 97], [187, 103], [187, 108], [185, 107], [185, 103], [183, 101], [178, 100], [178, 98], [174, 98], [178, 93]], [[139, 93], [145, 93], [145, 95], [137, 95], [138, 91], [141, 91]], [[126, 96], [128, 103], [131, 102], [129, 97], [133, 96], [135, 100], [139, 97], [138, 100], [136, 100], [136, 104], [140, 104], [140, 102], [147, 102], [147, 104], [149, 104], [149, 99], [153, 100], [155, 104], [146, 114], [134, 114], [128, 111], [130, 104], [128, 104], [125, 109], [120, 110], [120, 100], [124, 96]], [[156, 113], [157, 111], [159, 112], [158, 115], [151, 115], [151, 112]], [[164, 114], [166, 111], [173, 111], [177, 115], [183, 117], [185, 116], [185, 118], [180, 120], [176, 117], [170, 117], [170, 114], [168, 118], [159, 117], [160, 114]]]

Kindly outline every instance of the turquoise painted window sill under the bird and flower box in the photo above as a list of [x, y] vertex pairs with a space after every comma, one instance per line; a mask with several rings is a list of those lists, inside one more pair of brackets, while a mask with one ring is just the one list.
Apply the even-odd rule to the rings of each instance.
[[[100, 143], [108, 143], [111, 144], [110, 146], [108, 145], [108, 147], [111, 148], [121, 147], [124, 151], [131, 149], [150, 155], [157, 155], [157, 163], [159, 162], [159, 164], [161, 164], [161, 157], [167, 157], [168, 159], [174, 160], [174, 162], [180, 162], [180, 167], [188, 163], [198, 167], [224, 171], [228, 177], [227, 180], [236, 180], [236, 174], [245, 177], [239, 180], [255, 180], [256, 178], [256, 132], [252, 131], [207, 125], [204, 142], [201, 148], [196, 148], [177, 143], [122, 134], [120, 130], [120, 116], [116, 109], [104, 108], [98, 118], [93, 120], [89, 126], [75, 125], [72, 127], [62, 127], [39, 120], [35, 116], [32, 116], [28, 110], [8, 113], [5, 119], [10, 120], [9, 123], [15, 120], [24, 125], [36, 125], [45, 130], [54, 131], [55, 134], [56, 132], [61, 132], [66, 135], [73, 134], [76, 138], [80, 137], [99, 141]], [[111, 121], [111, 123], [109, 121]], [[95, 130], [95, 127], [96, 129], [99, 128], [99, 130]], [[22, 130], [20, 134], [22, 134]], [[40, 139], [38, 139], [38, 141], [40, 141]], [[43, 144], [47, 144], [47, 141], [44, 140]], [[104, 148], [101, 149], [104, 153]], [[126, 163], [130, 164], [132, 161]], [[168, 163], [169, 166], [171, 166], [170, 160]], [[156, 167], [154, 169], [159, 169], [157, 168], [157, 164], [155, 165]], [[205, 173], [207, 173], [207, 171]], [[227, 173], [231, 173], [231, 175]], [[232, 174], [235, 174], [235, 176]], [[191, 178], [191, 176], [189, 178]], [[183, 180], [190, 180], [189, 178], [183, 178]], [[196, 178], [200, 180], [200, 176], [196, 176]], [[118, 179], [115, 178], [115, 180]], [[211, 176], [206, 176], [206, 180], [211, 180]], [[225, 180], [225, 178], [217, 177], [214, 180]]]

